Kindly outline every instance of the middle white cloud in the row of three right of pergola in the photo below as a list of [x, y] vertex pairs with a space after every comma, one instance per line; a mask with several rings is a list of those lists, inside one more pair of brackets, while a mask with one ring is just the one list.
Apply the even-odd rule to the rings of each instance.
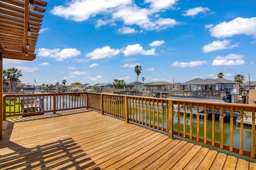
[[109, 46], [105, 46], [103, 48], [95, 49], [94, 51], [86, 54], [86, 57], [90, 57], [92, 60], [104, 59], [106, 57], [116, 56], [120, 53], [120, 49], [110, 49]]

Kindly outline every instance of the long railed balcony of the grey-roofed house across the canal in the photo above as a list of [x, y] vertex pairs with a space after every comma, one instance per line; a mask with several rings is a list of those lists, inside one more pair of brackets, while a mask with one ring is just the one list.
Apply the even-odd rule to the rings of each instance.
[[169, 96], [181, 98], [200, 98], [200, 99], [217, 99], [222, 100], [226, 98], [225, 91], [187, 91], [174, 90], [170, 91]]

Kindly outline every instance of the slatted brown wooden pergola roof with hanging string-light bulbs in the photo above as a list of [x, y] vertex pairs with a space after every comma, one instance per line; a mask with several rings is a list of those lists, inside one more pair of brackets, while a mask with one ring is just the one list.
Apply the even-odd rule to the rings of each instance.
[[[3, 58], [29, 61], [36, 58], [34, 52], [47, 2], [34, 0], [34, 10], [29, 10], [28, 4], [29, 0], [0, 0], [0, 52]], [[28, 35], [29, 29], [31, 35]], [[27, 43], [29, 48], [26, 48]]]

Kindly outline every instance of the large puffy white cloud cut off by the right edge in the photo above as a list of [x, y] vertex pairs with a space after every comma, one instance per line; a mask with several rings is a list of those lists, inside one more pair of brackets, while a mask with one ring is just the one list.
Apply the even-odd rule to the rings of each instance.
[[[212, 26], [212, 25], [211, 25]], [[210, 27], [210, 33], [213, 37], [225, 38], [233, 35], [252, 35], [256, 37], [256, 17], [254, 18], [235, 18], [229, 22], [222, 22], [214, 27]]]

